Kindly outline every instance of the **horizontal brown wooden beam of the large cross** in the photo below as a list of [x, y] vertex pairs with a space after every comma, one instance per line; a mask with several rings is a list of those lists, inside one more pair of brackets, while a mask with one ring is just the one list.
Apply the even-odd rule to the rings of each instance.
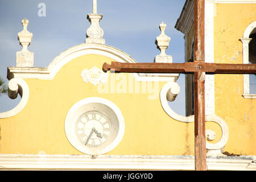
[[201, 61], [185, 63], [104, 63], [103, 71], [115, 73], [183, 73], [205, 72], [213, 74], [255, 74], [256, 64], [218, 64]]

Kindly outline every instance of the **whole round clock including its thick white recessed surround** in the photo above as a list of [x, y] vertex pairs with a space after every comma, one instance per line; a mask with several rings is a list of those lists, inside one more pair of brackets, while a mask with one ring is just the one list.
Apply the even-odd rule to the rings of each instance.
[[65, 133], [77, 150], [89, 154], [105, 154], [115, 148], [125, 132], [119, 108], [111, 101], [89, 97], [68, 111]]

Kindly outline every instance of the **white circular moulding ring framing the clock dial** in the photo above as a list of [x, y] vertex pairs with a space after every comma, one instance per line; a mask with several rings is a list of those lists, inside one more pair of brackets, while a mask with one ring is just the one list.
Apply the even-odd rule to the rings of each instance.
[[[75, 122], [77, 118], [82, 113], [84, 113], [84, 107], [92, 103], [98, 103], [98, 104], [109, 107], [114, 112], [114, 114], [118, 119], [117, 136], [112, 141], [112, 143], [110, 143], [108, 146], [106, 146], [105, 148], [99, 148], [98, 150], [90, 150], [88, 147], [85, 147], [83, 144], [79, 142], [79, 140], [77, 140], [75, 135]], [[71, 109], [69, 109], [67, 117], [65, 119], [65, 133], [67, 135], [69, 142], [77, 150], [89, 155], [105, 154], [113, 150], [121, 142], [123, 138], [123, 134], [125, 133], [125, 120], [123, 118], [121, 110], [112, 101], [109, 101], [109, 100], [106, 100], [105, 98], [100, 98], [100, 97], [88, 97], [79, 102], [76, 102], [76, 104], [73, 105]]]

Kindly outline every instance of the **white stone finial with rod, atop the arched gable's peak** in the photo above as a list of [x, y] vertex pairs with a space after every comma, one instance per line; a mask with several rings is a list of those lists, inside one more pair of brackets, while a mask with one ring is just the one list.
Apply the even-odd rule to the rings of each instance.
[[90, 27], [86, 31], [85, 43], [105, 44], [105, 39], [103, 39], [104, 31], [99, 24], [102, 17], [102, 14], [97, 14], [97, 0], [93, 0], [93, 14], [87, 15]]

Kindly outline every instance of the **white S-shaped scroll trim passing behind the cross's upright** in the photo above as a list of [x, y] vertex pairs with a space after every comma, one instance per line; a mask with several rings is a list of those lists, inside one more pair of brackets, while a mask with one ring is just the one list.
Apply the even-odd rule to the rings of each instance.
[[[170, 99], [168, 99], [168, 96], [170, 96], [170, 94], [177, 96], [178, 94], [177, 91], [179, 91], [179, 85], [176, 82], [168, 82], [161, 89], [160, 101], [164, 111], [166, 111], [166, 113], [170, 115], [171, 118], [177, 121], [187, 122], [187, 123], [194, 122], [195, 121], [194, 115], [190, 115], [189, 117], [179, 115], [175, 113], [175, 111], [172, 110], [171, 107], [168, 105], [168, 101], [171, 101]], [[224, 154], [221, 153], [221, 150], [225, 147], [226, 142], [228, 142], [228, 138], [229, 138], [228, 125], [222, 118], [218, 117], [217, 115], [205, 115], [205, 121], [217, 123], [222, 130], [222, 136], [220, 141], [218, 141], [217, 143], [207, 142], [206, 144], [206, 148], [208, 150], [207, 155], [208, 156], [224, 156]], [[213, 140], [215, 138], [215, 133], [212, 130], [205, 130], [205, 135], [207, 137], [207, 140]]]

